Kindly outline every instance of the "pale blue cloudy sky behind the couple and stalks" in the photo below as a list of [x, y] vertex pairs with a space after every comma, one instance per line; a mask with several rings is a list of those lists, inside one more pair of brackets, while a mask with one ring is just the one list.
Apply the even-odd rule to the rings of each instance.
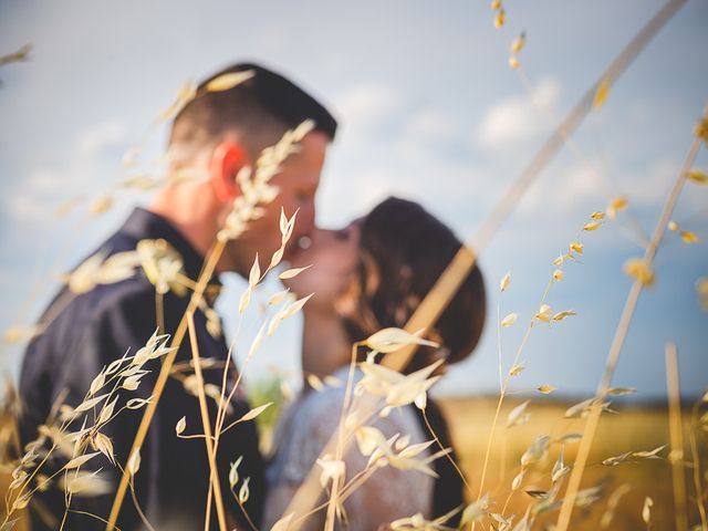
[[[32, 61], [0, 69], [0, 325], [27, 324], [56, 289], [55, 275], [93, 249], [135, 204], [122, 194], [98, 218], [85, 204], [123, 177], [123, 153], [146, 131], [186, 79], [237, 60], [257, 60], [300, 82], [342, 126], [319, 196], [319, 222], [341, 226], [387, 195], [420, 200], [469, 239], [561, 117], [618, 50], [662, 6], [656, 0], [504, 2], [496, 30], [487, 2], [50, 2], [0, 0], [0, 54], [27, 42]], [[662, 200], [691, 142], [708, 93], [708, 4], [688, 1], [611, 90], [605, 106], [574, 136], [529, 190], [480, 263], [490, 314], [482, 343], [455, 367], [440, 392], [482, 394], [498, 386], [496, 313], [521, 314], [502, 331], [508, 366], [535, 311], [551, 261], [594, 210], [626, 194], [633, 218], [654, 228]], [[532, 88], [508, 64], [511, 41]], [[157, 131], [155, 154], [164, 142]], [[706, 149], [697, 166], [706, 168]], [[708, 275], [708, 188], [683, 195], [674, 219], [702, 242], [667, 237], [657, 285], [643, 293], [615, 383], [638, 398], [665, 395], [664, 345], [679, 351], [681, 387], [707, 384], [708, 314], [695, 293]], [[584, 235], [582, 263], [568, 267], [549, 302], [577, 316], [534, 330], [513, 389], [544, 383], [564, 395], [597, 385], [631, 282], [624, 261], [642, 253], [626, 215]], [[499, 279], [512, 272], [509, 292]], [[229, 279], [220, 310], [227, 326], [241, 284]], [[264, 289], [266, 296], [277, 289]], [[263, 345], [249, 373], [296, 367], [299, 323]], [[258, 319], [247, 322], [248, 345]], [[15, 372], [17, 347], [2, 367]]]

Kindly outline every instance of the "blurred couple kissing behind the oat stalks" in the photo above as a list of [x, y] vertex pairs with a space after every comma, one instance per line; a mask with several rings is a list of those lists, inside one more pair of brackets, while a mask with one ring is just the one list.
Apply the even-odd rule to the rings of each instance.
[[[29, 506], [32, 529], [195, 530], [205, 529], [205, 518], [210, 518], [207, 529], [268, 530], [289, 510], [294, 514], [281, 520], [280, 529], [321, 530], [336, 520], [331, 529], [377, 530], [416, 514], [430, 520], [450, 513], [448, 524], [455, 527], [462, 480], [446, 418], [429, 397], [425, 407], [413, 398], [387, 407], [356, 429], [358, 445], [340, 447], [334, 457], [323, 454], [340, 426], [348, 429], [343, 405], [381, 385], [381, 378], [392, 385], [408, 376], [423, 378], [425, 394], [448, 365], [472, 352], [486, 313], [482, 277], [475, 267], [439, 319], [423, 331], [418, 340], [424, 344], [402, 375], [392, 375], [378, 365], [382, 355], [363, 346], [382, 330], [406, 326], [462, 243], [423, 206], [396, 197], [341, 229], [317, 227], [315, 194], [336, 127], [311, 95], [252, 63], [214, 74], [183, 102], [170, 125], [167, 185], [94, 253], [102, 253], [105, 264], [137, 249], [150, 257], [155, 271], [171, 264], [179, 274], [156, 284], [149, 268], [136, 268], [80, 293], [72, 292], [70, 282], [44, 313], [43, 333], [28, 345], [20, 437], [33, 455], [45, 457], [42, 473], [32, 480], [56, 478], [37, 485]], [[188, 173], [204, 177], [178, 177]], [[295, 212], [283, 246], [282, 220], [292, 220]], [[218, 260], [210, 263], [206, 259], [215, 248]], [[273, 455], [262, 456], [254, 421], [238, 421], [260, 404], [249, 405], [235, 388], [240, 375], [214, 302], [219, 273], [248, 279], [256, 257], [258, 271], [267, 271], [279, 252], [289, 268], [308, 268], [283, 283], [298, 299], [314, 293], [302, 308], [302, 368], [316, 379], [304, 378], [302, 392], [278, 421]], [[207, 284], [192, 309], [191, 290], [201, 279]], [[175, 336], [180, 330], [184, 341], [173, 354], [163, 334]], [[360, 346], [353, 350], [353, 344]], [[112, 413], [118, 413], [103, 418], [95, 406], [84, 412], [108, 367], [122, 360], [135, 365], [143, 345], [155, 355], [131, 369], [133, 385], [110, 394], [116, 396]], [[169, 377], [156, 400], [168, 356]], [[353, 358], [358, 365], [351, 369]], [[125, 374], [122, 368], [119, 374]], [[229, 426], [218, 445], [211, 441], [211, 464], [195, 378], [204, 389], [222, 389], [231, 397], [223, 408], [219, 393], [207, 400], [211, 429], [217, 420]], [[308, 383], [313, 381], [343, 385], [313, 388]], [[354, 396], [347, 389], [355, 389]], [[156, 402], [139, 446], [139, 468], [134, 442], [145, 412], [129, 406], [136, 398]], [[59, 444], [65, 439], [72, 441], [69, 450]], [[101, 488], [67, 488], [80, 476], [77, 469], [66, 469], [77, 449], [95, 454], [82, 464], [81, 473], [102, 478]], [[37, 461], [28, 459], [28, 468], [39, 466]], [[218, 479], [210, 479], [210, 465], [216, 465]], [[129, 473], [124, 475], [126, 467]], [[312, 483], [313, 469], [324, 485], [315, 480], [320, 490], [314, 503], [300, 507], [295, 500]], [[125, 477], [128, 492], [122, 500]], [[337, 497], [327, 506], [333, 489]]]

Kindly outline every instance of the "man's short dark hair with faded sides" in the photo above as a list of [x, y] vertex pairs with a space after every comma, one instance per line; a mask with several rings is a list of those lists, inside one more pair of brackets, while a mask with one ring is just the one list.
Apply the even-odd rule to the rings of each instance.
[[[249, 80], [220, 92], [206, 85], [217, 77], [253, 71]], [[336, 121], [314, 97], [282, 75], [254, 63], [237, 63], [201, 82], [197, 95], [175, 116], [169, 145], [200, 147], [219, 143], [227, 133], [236, 133], [256, 156], [278, 140], [288, 128], [305, 119], [315, 129], [334, 139]]]

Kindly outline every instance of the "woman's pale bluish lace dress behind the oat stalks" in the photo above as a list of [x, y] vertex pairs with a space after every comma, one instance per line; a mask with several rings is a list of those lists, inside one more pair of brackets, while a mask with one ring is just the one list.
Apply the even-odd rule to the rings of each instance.
[[[348, 367], [342, 367], [334, 376], [345, 383], [347, 371]], [[361, 376], [357, 371], [355, 382]], [[263, 529], [270, 529], [283, 516], [312, 466], [317, 466], [315, 461], [340, 421], [344, 394], [344, 385], [327, 386], [322, 392], [306, 391], [283, 413], [275, 428], [274, 455], [266, 472], [268, 496]], [[400, 434], [402, 437], [410, 437], [410, 445], [424, 442], [424, 433], [412, 407], [394, 409], [387, 417], [376, 418], [371, 425], [386, 438]], [[427, 457], [428, 450], [418, 457]], [[345, 481], [348, 481], [365, 468], [368, 457], [364, 457], [353, 444], [344, 461]], [[379, 468], [345, 500], [348, 523], [346, 527], [337, 523], [335, 529], [375, 531], [382, 524], [418, 512], [427, 518], [431, 512], [433, 490], [434, 478], [420, 471], [404, 471], [391, 466]], [[324, 497], [321, 501], [324, 501]], [[324, 528], [324, 520], [325, 511], [322, 510], [310, 517], [302, 529], [320, 531]]]

